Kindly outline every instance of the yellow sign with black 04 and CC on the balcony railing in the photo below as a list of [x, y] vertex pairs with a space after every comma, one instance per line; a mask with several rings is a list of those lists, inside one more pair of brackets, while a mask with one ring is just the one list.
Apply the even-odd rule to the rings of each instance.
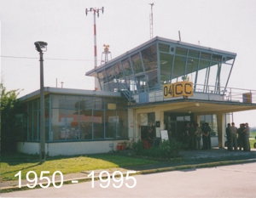
[[176, 82], [163, 85], [164, 99], [179, 96], [193, 96], [193, 82]]

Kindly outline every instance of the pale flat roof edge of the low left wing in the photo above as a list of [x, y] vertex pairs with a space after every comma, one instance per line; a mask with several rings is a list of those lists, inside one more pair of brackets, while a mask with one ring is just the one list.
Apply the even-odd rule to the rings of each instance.
[[[49, 93], [57, 94], [67, 94], [67, 95], [87, 95], [87, 96], [98, 96], [98, 97], [121, 97], [119, 92], [105, 92], [105, 91], [95, 91], [95, 90], [85, 90], [85, 89], [73, 89], [73, 88], [44, 88], [44, 95]], [[19, 98], [20, 101], [24, 102], [26, 100], [36, 99], [40, 97], [40, 89], [32, 93], [28, 93], [25, 96]]]

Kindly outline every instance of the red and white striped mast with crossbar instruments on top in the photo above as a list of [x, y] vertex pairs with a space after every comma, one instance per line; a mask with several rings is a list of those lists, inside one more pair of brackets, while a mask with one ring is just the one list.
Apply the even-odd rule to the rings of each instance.
[[[88, 12], [93, 12], [93, 32], [94, 32], [94, 68], [96, 69], [97, 67], [97, 45], [96, 45], [96, 14], [99, 17], [100, 15], [100, 10], [102, 10], [102, 14], [104, 12], [104, 7], [102, 8], [85, 8], [85, 14], [87, 16]], [[95, 78], [95, 90], [98, 90], [100, 86], [98, 85], [98, 80]]]

